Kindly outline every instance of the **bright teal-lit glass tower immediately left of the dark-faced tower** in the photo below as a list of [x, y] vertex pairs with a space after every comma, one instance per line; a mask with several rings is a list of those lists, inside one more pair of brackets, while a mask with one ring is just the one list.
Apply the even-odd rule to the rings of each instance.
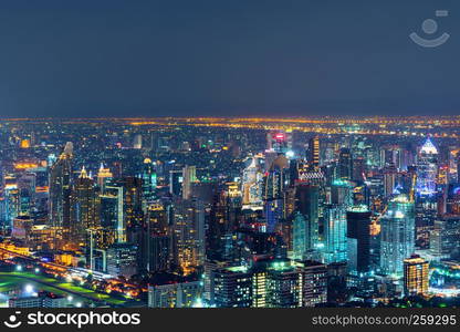
[[324, 210], [324, 260], [326, 263], [346, 261], [346, 208], [327, 205]]

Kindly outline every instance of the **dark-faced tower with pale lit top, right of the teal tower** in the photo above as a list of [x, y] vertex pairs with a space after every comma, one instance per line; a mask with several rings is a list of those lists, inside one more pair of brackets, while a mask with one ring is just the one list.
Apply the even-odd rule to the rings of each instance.
[[370, 215], [367, 206], [354, 206], [346, 212], [348, 271], [353, 274], [370, 271]]

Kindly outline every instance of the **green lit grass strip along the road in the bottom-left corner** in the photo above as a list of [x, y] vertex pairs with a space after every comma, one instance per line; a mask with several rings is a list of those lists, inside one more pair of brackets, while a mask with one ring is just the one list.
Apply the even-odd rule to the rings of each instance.
[[107, 302], [107, 304], [119, 305], [125, 303], [108, 294], [98, 293], [91, 289], [75, 286], [71, 282], [62, 282], [56, 279], [35, 274], [32, 272], [0, 272], [0, 293], [14, 289], [23, 289], [27, 284], [33, 287], [36, 291], [49, 291], [59, 295], [72, 295], [74, 301], [80, 302]]

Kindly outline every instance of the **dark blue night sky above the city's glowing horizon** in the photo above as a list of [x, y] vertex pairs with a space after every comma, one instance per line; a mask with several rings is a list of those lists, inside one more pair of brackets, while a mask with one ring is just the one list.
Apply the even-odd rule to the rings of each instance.
[[0, 2], [0, 117], [460, 114], [459, 61], [457, 0]]

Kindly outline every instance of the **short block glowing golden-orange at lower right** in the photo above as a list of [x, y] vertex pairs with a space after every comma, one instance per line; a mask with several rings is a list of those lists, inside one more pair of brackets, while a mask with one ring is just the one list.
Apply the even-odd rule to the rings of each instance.
[[429, 262], [418, 255], [404, 260], [404, 292], [406, 295], [427, 294]]

